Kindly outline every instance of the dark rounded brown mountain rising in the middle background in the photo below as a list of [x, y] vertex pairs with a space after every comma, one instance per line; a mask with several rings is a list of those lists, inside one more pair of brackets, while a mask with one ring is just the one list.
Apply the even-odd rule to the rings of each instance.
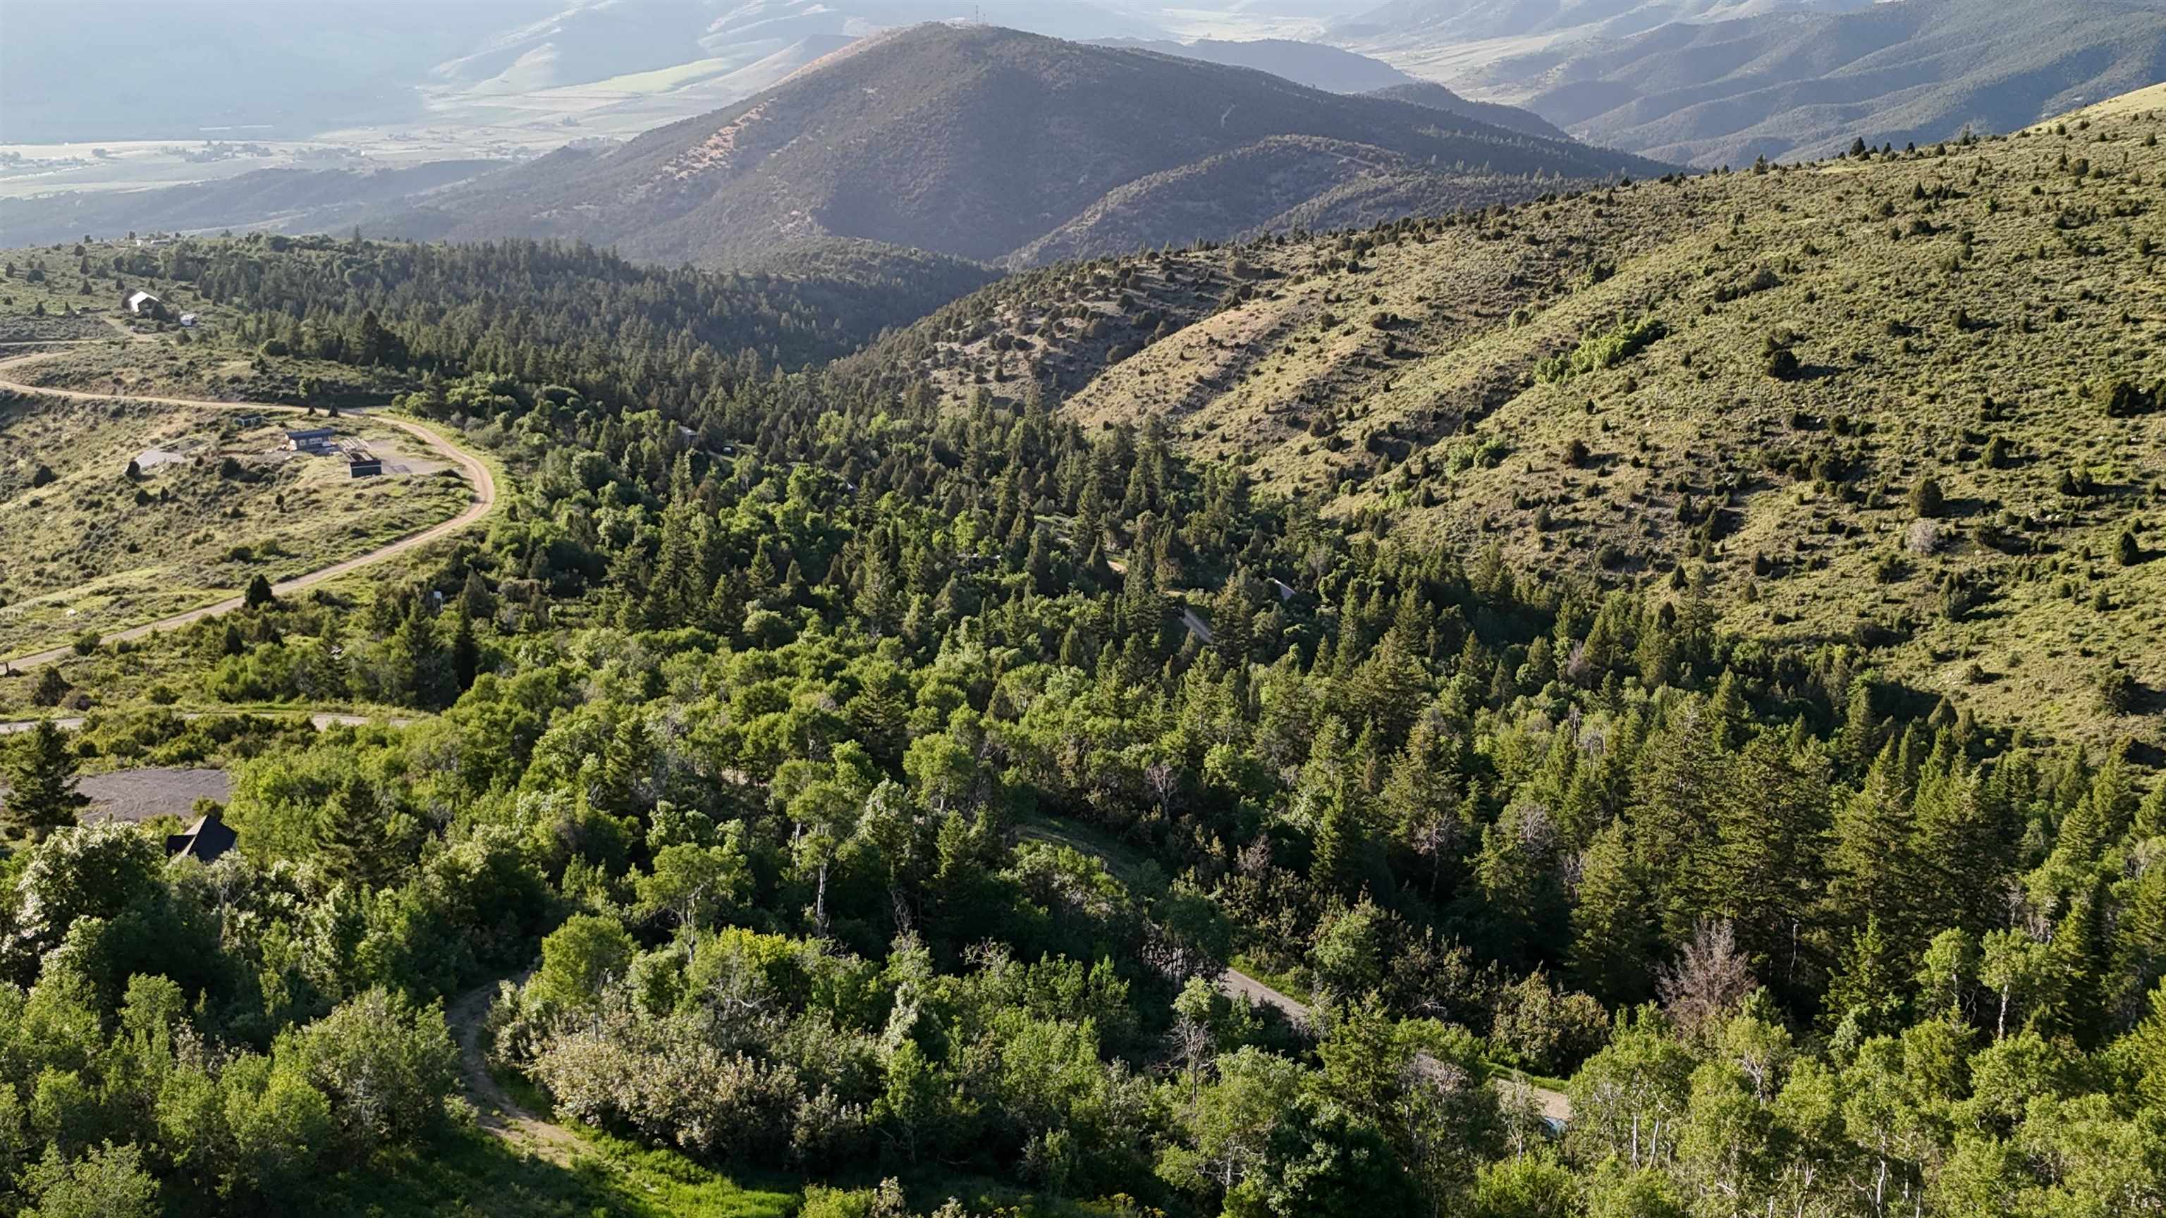
[[[1659, 169], [1261, 72], [918, 26], [741, 106], [622, 147], [559, 152], [392, 223], [446, 238], [585, 238], [663, 262], [736, 262], [817, 236], [999, 260], [1139, 178], [1287, 134], [1367, 143], [1440, 173], [1518, 176], [1525, 193], [1536, 180]], [[1486, 184], [1469, 193], [1484, 195]], [[1126, 247], [1087, 251], [1109, 249]]]

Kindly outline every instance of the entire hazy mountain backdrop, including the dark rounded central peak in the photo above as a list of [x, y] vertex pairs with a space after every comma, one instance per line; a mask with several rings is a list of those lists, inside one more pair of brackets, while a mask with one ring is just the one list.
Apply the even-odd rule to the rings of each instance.
[[[736, 260], [832, 232], [1033, 260], [1482, 202], [1527, 173], [1633, 171], [1627, 158], [1557, 143], [1573, 137], [1663, 163], [1744, 165], [1819, 156], [1858, 137], [1902, 145], [1965, 126], [2010, 130], [2166, 78], [2166, 0], [1349, 7], [0, 0], [0, 143], [329, 130], [349, 163], [399, 167], [325, 171], [312, 150], [290, 145], [301, 152], [264, 154], [282, 169], [173, 193], [0, 202], [0, 243], [364, 219], [440, 236], [574, 234], [652, 258]], [[892, 37], [968, 13], [1098, 43], [1031, 61], [983, 33]], [[1334, 46], [1165, 37], [1213, 22], [1293, 24]], [[100, 54], [52, 54], [87, 28]], [[1128, 67], [1115, 72], [1115, 54]], [[1178, 61], [1291, 85], [1254, 72], [1183, 76]], [[838, 93], [858, 78], [858, 95]], [[1139, 106], [1122, 95], [1133, 87], [1165, 93]], [[747, 98], [771, 89], [754, 111]], [[728, 156], [691, 147], [732, 124], [745, 126], [728, 137]], [[336, 134], [362, 128], [366, 139]], [[431, 137], [427, 152], [401, 143], [412, 130]], [[775, 132], [793, 134], [771, 143]], [[466, 182], [559, 147], [529, 169]], [[418, 165], [431, 156], [453, 165]], [[910, 156], [927, 160], [905, 167]], [[71, 165], [89, 169], [67, 169], [67, 186], [145, 180], [82, 150]], [[37, 189], [39, 173], [0, 163], [13, 195]], [[162, 180], [195, 176], [182, 165]]]

